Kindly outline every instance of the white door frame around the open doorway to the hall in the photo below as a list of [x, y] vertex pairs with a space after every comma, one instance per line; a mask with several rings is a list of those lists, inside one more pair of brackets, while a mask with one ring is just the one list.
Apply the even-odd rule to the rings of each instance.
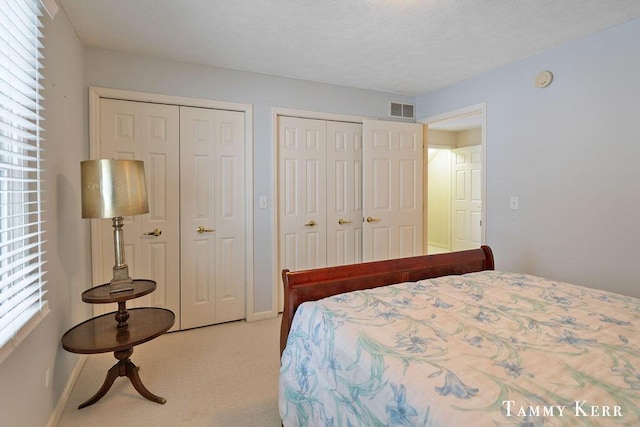
[[[482, 160], [482, 211], [480, 213], [480, 220], [482, 221], [482, 230], [481, 230], [481, 241], [482, 244], [486, 244], [487, 242], [487, 104], [480, 103], [476, 105], [471, 105], [469, 107], [460, 108], [458, 110], [449, 111], [447, 113], [437, 114], [435, 116], [430, 116], [424, 119], [418, 120], [419, 123], [423, 123], [427, 126], [427, 131], [429, 129], [429, 124], [433, 124], [435, 122], [440, 122], [443, 120], [449, 120], [457, 117], [470, 116], [473, 114], [480, 114], [482, 121], [482, 129], [480, 130], [481, 134], [481, 148], [480, 148], [480, 158]], [[425, 147], [425, 155], [428, 152], [429, 148], [429, 140], [427, 138], [427, 146]], [[426, 164], [425, 164], [426, 168]], [[429, 198], [427, 194], [428, 186], [424, 186], [424, 200], [425, 206], [424, 211], [427, 212], [427, 203], [429, 203]], [[428, 218], [425, 216], [425, 225], [428, 223]], [[425, 227], [426, 230], [426, 227]], [[426, 231], [425, 231], [426, 232]], [[425, 239], [425, 242], [427, 240]], [[426, 243], [425, 243], [426, 244]]]

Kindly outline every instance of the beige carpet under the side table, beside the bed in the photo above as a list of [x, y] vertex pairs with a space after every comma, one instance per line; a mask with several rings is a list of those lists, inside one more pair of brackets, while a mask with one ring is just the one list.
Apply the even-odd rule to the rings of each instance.
[[116, 379], [97, 403], [78, 410], [100, 388], [116, 362], [90, 355], [64, 409], [60, 427], [277, 427], [280, 317], [225, 323], [162, 335], [134, 348], [131, 360], [160, 405]]

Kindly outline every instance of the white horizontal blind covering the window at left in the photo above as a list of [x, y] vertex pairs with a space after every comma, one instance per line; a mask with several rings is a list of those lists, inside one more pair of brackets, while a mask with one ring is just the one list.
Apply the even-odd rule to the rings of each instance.
[[0, 0], [0, 347], [46, 305], [39, 0]]

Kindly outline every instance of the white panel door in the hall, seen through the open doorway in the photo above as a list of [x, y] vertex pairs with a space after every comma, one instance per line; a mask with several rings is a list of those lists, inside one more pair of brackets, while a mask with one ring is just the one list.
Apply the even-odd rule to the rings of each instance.
[[482, 244], [481, 146], [452, 150], [451, 249], [474, 249]]

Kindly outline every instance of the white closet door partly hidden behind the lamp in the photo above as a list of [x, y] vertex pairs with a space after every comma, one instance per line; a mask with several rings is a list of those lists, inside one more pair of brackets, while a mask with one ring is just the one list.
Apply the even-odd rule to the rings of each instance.
[[[127, 302], [127, 307], [165, 307], [180, 314], [180, 236], [178, 107], [143, 102], [100, 100], [100, 158], [144, 161], [149, 213], [125, 218], [125, 262], [132, 278], [157, 282], [155, 292]], [[115, 263], [113, 227], [100, 221], [102, 247], [93, 247], [94, 282], [111, 280]], [[158, 229], [159, 236], [144, 233]], [[99, 260], [96, 263], [96, 260]], [[97, 311], [115, 305], [96, 305]], [[173, 329], [179, 329], [176, 322]]]

